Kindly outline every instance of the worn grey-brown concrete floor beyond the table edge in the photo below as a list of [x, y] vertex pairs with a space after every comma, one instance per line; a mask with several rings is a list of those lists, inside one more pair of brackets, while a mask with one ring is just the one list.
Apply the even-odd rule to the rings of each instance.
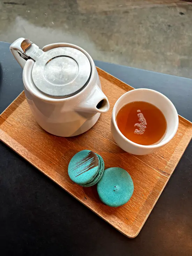
[[0, 0], [0, 41], [69, 42], [97, 60], [192, 78], [192, 5], [135, 1]]

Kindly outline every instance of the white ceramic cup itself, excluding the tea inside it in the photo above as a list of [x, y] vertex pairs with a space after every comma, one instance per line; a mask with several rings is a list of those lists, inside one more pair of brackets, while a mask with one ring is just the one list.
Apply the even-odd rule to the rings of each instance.
[[[116, 123], [116, 116], [118, 111], [127, 103], [134, 101], [145, 101], [155, 105], [162, 111], [167, 121], [167, 131], [164, 138], [155, 145], [140, 145], [127, 139], [119, 130]], [[147, 155], [157, 151], [165, 144], [167, 144], [178, 129], [179, 119], [175, 106], [173, 103], [162, 93], [151, 89], [134, 89], [123, 94], [115, 103], [111, 117], [111, 132], [117, 145], [124, 151], [134, 155]]]

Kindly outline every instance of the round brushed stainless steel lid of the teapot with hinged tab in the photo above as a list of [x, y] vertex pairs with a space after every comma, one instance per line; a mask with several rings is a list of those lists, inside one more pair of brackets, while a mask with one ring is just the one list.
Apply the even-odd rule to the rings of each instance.
[[87, 84], [91, 65], [83, 52], [72, 47], [58, 47], [44, 52], [28, 39], [21, 43], [21, 48], [23, 53], [20, 55], [35, 60], [32, 79], [43, 93], [69, 96]]

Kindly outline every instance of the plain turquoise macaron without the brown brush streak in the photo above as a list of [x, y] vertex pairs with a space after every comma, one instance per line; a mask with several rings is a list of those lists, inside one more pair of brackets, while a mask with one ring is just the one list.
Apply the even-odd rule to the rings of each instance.
[[97, 183], [97, 192], [101, 201], [112, 207], [118, 207], [128, 202], [133, 195], [134, 185], [126, 170], [118, 167], [104, 171]]

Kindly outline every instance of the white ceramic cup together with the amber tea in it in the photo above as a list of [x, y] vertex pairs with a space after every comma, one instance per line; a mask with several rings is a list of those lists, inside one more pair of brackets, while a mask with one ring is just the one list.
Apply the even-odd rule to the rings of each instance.
[[173, 103], [151, 89], [134, 89], [115, 103], [111, 132], [117, 145], [128, 153], [146, 155], [167, 144], [178, 128]]

